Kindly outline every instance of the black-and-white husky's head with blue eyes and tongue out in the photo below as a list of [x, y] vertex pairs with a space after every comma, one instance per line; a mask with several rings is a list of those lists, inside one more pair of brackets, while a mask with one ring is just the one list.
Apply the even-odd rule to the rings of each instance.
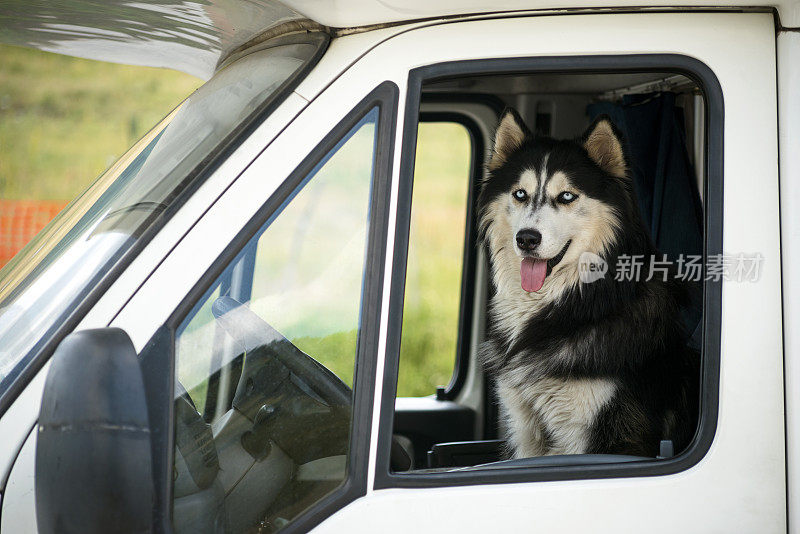
[[[607, 117], [580, 141], [534, 136], [504, 112], [478, 200], [498, 285], [538, 292], [549, 278], [578, 282], [578, 262], [603, 257], [620, 228], [630, 186], [623, 144]], [[515, 275], [518, 276], [515, 278]]]

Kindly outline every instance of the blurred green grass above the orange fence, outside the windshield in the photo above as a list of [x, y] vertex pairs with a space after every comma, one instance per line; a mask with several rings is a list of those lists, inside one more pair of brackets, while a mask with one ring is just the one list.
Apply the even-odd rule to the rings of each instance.
[[0, 45], [0, 198], [72, 199], [200, 83]]

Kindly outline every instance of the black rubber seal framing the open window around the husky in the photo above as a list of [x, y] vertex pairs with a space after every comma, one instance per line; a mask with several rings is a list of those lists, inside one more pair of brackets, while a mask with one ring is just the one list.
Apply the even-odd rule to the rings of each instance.
[[478, 59], [439, 63], [411, 70], [408, 77], [403, 145], [400, 155], [395, 254], [392, 260], [389, 324], [383, 392], [380, 401], [374, 489], [659, 476], [684, 471], [696, 465], [708, 452], [717, 428], [722, 314], [722, 283], [713, 280], [706, 280], [703, 286], [703, 349], [699, 423], [694, 439], [681, 454], [664, 460], [577, 466], [494, 470], [484, 468], [446, 473], [393, 473], [390, 470], [389, 452], [403, 324], [403, 294], [411, 214], [411, 188], [423, 82], [487, 74], [607, 74], [610, 72], [673, 72], [687, 76], [700, 87], [705, 97], [707, 125], [706, 181], [703, 196], [706, 199], [703, 252], [705, 257], [722, 253], [724, 100], [719, 80], [703, 62], [680, 54], [620, 54]]

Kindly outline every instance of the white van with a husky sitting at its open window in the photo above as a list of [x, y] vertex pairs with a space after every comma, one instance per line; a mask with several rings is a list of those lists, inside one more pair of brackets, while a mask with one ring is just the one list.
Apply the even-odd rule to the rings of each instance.
[[[800, 532], [800, 2], [0, 9], [5, 42], [208, 79], [0, 271], [3, 534]], [[759, 258], [697, 279], [686, 450], [500, 456], [473, 208], [506, 106], [610, 113], [661, 248]], [[456, 319], [412, 313], [453, 250]]]

